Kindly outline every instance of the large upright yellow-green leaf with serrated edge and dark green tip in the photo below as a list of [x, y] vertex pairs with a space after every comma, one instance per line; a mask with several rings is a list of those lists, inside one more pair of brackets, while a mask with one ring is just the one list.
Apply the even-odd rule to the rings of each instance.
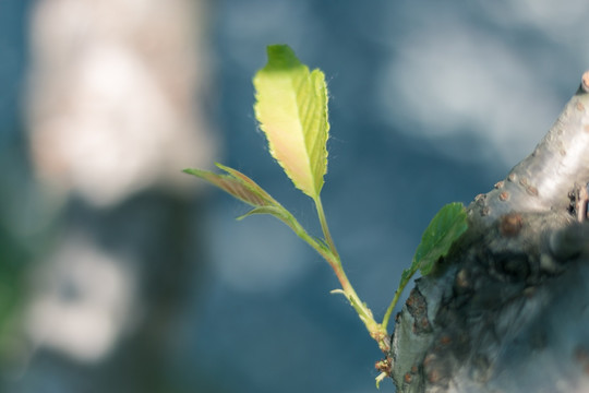
[[267, 48], [268, 62], [254, 79], [255, 117], [269, 152], [294, 187], [316, 199], [327, 171], [327, 86], [287, 45]]

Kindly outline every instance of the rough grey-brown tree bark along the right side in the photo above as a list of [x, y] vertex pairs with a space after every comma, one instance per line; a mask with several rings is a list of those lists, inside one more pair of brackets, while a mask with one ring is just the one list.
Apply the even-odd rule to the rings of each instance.
[[392, 337], [399, 392], [589, 392], [588, 146], [589, 71], [416, 281]]

